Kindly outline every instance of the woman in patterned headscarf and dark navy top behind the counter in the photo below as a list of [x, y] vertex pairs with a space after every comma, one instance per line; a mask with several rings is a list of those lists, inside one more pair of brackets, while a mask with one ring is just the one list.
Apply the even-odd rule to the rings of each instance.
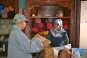
[[51, 41], [52, 47], [60, 47], [69, 44], [66, 31], [63, 29], [61, 19], [56, 19], [53, 28], [49, 31], [47, 38]]

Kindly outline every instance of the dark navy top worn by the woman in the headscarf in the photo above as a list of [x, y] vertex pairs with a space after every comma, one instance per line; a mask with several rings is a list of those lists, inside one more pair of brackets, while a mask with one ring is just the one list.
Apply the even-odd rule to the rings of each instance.
[[49, 31], [48, 35], [47, 35], [47, 39], [49, 39], [51, 41], [50, 46], [52, 47], [60, 47], [66, 44], [69, 44], [69, 39], [67, 36], [66, 32], [62, 32], [62, 37], [54, 37], [51, 33], [51, 31]]

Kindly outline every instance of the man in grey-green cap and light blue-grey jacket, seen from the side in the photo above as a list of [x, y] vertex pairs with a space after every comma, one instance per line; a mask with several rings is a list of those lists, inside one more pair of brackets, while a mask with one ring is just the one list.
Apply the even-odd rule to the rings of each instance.
[[37, 39], [29, 39], [21, 30], [28, 20], [22, 14], [16, 14], [13, 19], [8, 41], [8, 58], [32, 58], [31, 53], [40, 52], [43, 44]]

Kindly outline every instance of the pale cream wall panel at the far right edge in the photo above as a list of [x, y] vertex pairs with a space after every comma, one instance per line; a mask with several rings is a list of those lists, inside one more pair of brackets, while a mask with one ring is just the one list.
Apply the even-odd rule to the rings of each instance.
[[80, 48], [87, 49], [87, 1], [81, 1]]

